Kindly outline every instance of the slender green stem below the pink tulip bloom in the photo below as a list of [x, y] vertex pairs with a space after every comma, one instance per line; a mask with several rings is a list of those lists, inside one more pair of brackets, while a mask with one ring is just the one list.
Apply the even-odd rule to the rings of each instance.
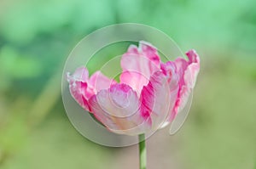
[[147, 151], [146, 151], [145, 134], [139, 135], [139, 152], [140, 152], [140, 169], [146, 169]]

